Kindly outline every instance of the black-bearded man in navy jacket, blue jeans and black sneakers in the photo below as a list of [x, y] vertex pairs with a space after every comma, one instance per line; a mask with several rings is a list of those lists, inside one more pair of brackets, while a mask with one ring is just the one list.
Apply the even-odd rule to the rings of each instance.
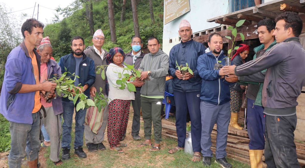
[[[65, 72], [65, 68], [67, 72], [74, 75], [78, 75], [79, 78], [75, 78], [74, 85], [78, 86], [81, 84], [83, 88], [79, 88], [84, 92], [86, 96], [90, 96], [90, 91], [88, 88], [92, 86], [95, 82], [95, 69], [94, 69], [94, 61], [87, 57], [84, 52], [84, 39], [80, 36], [76, 36], [71, 40], [71, 48], [73, 50], [72, 53], [65, 55], [60, 58], [59, 66], [61, 68], [61, 72]], [[75, 92], [75, 91], [73, 91]], [[71, 143], [71, 130], [72, 130], [72, 119], [74, 108], [73, 101], [70, 101], [68, 98], [62, 99], [63, 103], [63, 139], [62, 139], [62, 148], [63, 155], [62, 158], [64, 160], [70, 159], [70, 143]], [[85, 115], [86, 108], [84, 110], [80, 109], [75, 113], [75, 141], [74, 141], [74, 149], [75, 154], [77, 154], [80, 158], [87, 157], [86, 153], [83, 151], [83, 136], [84, 136], [84, 123], [85, 123]]]

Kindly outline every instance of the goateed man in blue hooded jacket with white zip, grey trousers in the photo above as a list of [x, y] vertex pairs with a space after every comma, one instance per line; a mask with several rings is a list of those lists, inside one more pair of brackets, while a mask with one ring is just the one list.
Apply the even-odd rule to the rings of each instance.
[[[230, 168], [232, 165], [226, 160], [226, 147], [228, 127], [230, 122], [230, 87], [231, 83], [224, 80], [223, 70], [214, 70], [216, 63], [224, 65], [226, 58], [222, 51], [222, 37], [218, 33], [209, 36], [210, 52], [198, 58], [197, 70], [202, 78], [201, 85], [201, 148], [203, 164], [211, 165], [213, 153], [211, 132], [215, 122], [217, 123], [216, 162], [222, 167]], [[193, 124], [193, 122], [192, 122]]]

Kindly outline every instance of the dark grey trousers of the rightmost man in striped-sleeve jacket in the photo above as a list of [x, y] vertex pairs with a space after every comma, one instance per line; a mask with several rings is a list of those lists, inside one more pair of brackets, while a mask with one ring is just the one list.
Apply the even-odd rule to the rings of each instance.
[[268, 167], [299, 168], [294, 143], [296, 114], [291, 116], [271, 116], [266, 118], [265, 162]]

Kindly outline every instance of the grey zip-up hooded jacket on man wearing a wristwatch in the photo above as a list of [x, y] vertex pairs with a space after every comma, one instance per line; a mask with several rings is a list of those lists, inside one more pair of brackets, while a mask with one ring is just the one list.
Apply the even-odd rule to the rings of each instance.
[[143, 96], [164, 96], [165, 78], [168, 71], [168, 55], [162, 50], [155, 54], [148, 53], [144, 56], [139, 69], [151, 71], [150, 81], [145, 81], [141, 88]]

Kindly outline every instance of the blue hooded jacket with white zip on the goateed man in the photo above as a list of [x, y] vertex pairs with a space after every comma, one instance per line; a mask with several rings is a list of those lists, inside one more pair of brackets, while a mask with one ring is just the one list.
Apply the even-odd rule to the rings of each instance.
[[201, 84], [201, 101], [211, 103], [213, 105], [222, 105], [230, 101], [230, 87], [229, 83], [223, 79], [220, 79], [219, 70], [214, 70], [214, 65], [217, 61], [221, 61], [222, 65], [225, 65], [224, 52], [221, 51], [218, 57], [215, 57], [210, 51], [199, 56], [197, 61], [197, 70], [199, 76], [202, 78]]

